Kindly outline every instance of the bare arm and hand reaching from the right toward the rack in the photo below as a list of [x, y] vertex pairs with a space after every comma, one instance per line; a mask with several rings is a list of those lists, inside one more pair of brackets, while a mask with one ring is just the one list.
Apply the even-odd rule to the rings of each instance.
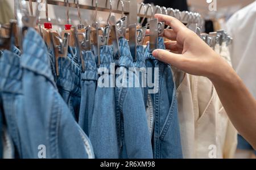
[[[195, 33], [171, 16], [156, 14], [172, 29], [165, 30], [168, 50], [153, 56], [188, 74], [206, 76], [216, 88], [225, 111], [238, 132], [256, 149], [256, 100], [228, 63]], [[255, 84], [256, 86], [256, 84]]]

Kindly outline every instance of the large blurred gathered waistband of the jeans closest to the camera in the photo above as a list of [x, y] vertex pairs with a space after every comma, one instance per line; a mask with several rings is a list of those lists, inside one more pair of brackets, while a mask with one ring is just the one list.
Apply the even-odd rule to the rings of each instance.
[[34, 28], [28, 28], [27, 35], [24, 37], [21, 66], [45, 76], [56, 87], [46, 44]]

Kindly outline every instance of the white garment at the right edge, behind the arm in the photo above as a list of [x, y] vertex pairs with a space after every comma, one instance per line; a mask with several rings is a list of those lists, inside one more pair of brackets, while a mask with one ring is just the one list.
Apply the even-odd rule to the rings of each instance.
[[233, 67], [256, 99], [256, 1], [236, 12], [226, 23], [233, 37]]

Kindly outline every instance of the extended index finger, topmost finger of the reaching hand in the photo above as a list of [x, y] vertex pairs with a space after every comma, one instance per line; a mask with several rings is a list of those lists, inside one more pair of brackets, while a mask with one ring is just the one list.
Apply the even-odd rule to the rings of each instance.
[[158, 18], [159, 22], [165, 22], [167, 25], [172, 27], [174, 32], [179, 32], [181, 29], [184, 29], [185, 25], [181, 23], [179, 20], [172, 16], [163, 15], [163, 14], [155, 14], [155, 18]]

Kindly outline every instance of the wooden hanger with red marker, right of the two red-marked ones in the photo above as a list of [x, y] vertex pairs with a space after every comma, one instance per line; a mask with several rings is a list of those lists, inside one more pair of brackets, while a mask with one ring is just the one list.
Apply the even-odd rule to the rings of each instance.
[[66, 3], [66, 15], [67, 15], [67, 24], [65, 24], [65, 29], [61, 32], [61, 37], [64, 38], [65, 33], [69, 33], [69, 46], [75, 47], [75, 32], [72, 28], [72, 24], [69, 24], [69, 0], [65, 0]]

